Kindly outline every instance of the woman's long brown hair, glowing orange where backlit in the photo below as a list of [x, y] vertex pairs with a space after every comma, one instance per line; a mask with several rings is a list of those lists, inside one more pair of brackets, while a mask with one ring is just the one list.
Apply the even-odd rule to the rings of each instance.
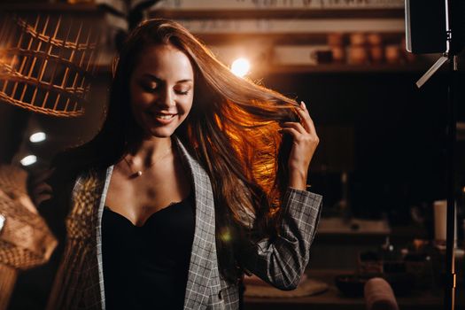
[[[167, 19], [150, 19], [128, 36], [113, 66], [110, 105], [103, 128], [79, 148], [92, 152], [93, 165], [109, 166], [128, 152], [135, 134], [129, 79], [143, 49], [171, 44], [189, 58], [195, 72], [192, 109], [175, 134], [205, 168], [213, 186], [216, 243], [221, 275], [237, 277], [236, 246], [277, 233], [276, 219], [287, 186], [291, 138], [279, 122], [297, 121], [296, 102], [243, 78], [221, 64], [194, 35]], [[89, 163], [90, 164], [90, 163]], [[253, 214], [253, 229], [244, 225]], [[237, 229], [239, 228], [239, 229]]]

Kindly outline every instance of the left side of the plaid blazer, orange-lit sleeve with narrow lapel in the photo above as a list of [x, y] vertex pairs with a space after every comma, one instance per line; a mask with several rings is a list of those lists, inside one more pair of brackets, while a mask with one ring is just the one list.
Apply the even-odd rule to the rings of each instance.
[[47, 309], [104, 309], [101, 215], [112, 167], [89, 170], [74, 183], [67, 241]]

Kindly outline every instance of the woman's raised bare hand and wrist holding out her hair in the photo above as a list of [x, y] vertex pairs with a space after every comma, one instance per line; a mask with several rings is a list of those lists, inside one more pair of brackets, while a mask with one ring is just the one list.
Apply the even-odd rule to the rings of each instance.
[[293, 143], [289, 156], [289, 186], [297, 190], [306, 190], [306, 175], [310, 161], [320, 139], [316, 136], [314, 121], [304, 102], [296, 108], [301, 122], [286, 121], [281, 124], [281, 133], [292, 136]]

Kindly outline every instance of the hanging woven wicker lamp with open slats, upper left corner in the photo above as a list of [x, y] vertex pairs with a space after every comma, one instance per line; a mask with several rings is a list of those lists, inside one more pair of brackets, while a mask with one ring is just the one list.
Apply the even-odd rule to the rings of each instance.
[[101, 31], [82, 16], [7, 14], [0, 22], [0, 102], [81, 116]]

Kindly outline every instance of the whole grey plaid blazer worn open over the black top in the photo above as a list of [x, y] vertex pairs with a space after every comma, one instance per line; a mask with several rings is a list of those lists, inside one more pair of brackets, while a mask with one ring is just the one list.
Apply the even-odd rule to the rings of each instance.
[[[220, 277], [215, 244], [213, 190], [208, 174], [174, 136], [195, 191], [195, 233], [184, 309], [237, 309], [238, 285]], [[105, 309], [102, 214], [112, 167], [81, 174], [66, 218], [66, 250], [50, 293], [48, 309]], [[281, 234], [244, 249], [244, 269], [282, 290], [297, 287], [309, 260], [322, 197], [288, 187]], [[111, 310], [111, 309], [109, 309]]]

